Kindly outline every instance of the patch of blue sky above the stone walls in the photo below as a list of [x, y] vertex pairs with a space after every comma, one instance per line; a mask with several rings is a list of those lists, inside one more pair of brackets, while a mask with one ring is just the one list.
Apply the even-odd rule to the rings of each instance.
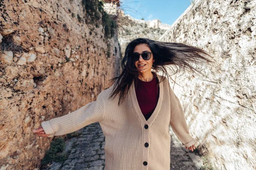
[[136, 19], [159, 19], [162, 23], [172, 25], [188, 8], [191, 0], [120, 0], [125, 14]]

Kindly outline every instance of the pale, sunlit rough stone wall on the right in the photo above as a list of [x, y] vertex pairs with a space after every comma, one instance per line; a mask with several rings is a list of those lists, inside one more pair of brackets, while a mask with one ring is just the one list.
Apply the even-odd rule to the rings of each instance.
[[160, 41], [182, 42], [212, 55], [203, 77], [174, 85], [201, 154], [217, 170], [256, 169], [256, 1], [196, 0]]

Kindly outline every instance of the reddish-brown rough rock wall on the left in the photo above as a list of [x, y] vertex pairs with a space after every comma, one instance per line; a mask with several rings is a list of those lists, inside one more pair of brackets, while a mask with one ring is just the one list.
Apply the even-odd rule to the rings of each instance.
[[[119, 75], [117, 32], [87, 24], [82, 0], [0, 0], [0, 169], [40, 166], [32, 130], [96, 100]], [[8, 50], [8, 51], [6, 51]]]

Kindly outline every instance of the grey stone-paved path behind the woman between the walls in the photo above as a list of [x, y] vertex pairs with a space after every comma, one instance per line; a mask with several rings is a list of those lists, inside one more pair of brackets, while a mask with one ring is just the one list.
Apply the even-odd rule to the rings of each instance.
[[[98, 122], [76, 131], [81, 135], [67, 139], [64, 162], [52, 162], [44, 170], [105, 170], [105, 136]], [[182, 146], [171, 130], [170, 170], [199, 170], [199, 156]], [[192, 159], [191, 159], [192, 158]]]

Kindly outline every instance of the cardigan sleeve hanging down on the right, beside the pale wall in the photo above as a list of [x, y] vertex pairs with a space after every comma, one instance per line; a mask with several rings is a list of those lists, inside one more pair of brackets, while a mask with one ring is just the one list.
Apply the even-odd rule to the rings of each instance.
[[190, 136], [189, 129], [186, 124], [186, 119], [184, 116], [184, 112], [182, 106], [180, 104], [180, 100], [174, 94], [172, 89], [170, 88], [170, 97], [171, 97], [171, 118], [170, 125], [172, 127], [173, 132], [177, 136], [177, 138], [182, 142], [182, 145], [186, 147], [190, 147], [195, 144], [196, 140]]

